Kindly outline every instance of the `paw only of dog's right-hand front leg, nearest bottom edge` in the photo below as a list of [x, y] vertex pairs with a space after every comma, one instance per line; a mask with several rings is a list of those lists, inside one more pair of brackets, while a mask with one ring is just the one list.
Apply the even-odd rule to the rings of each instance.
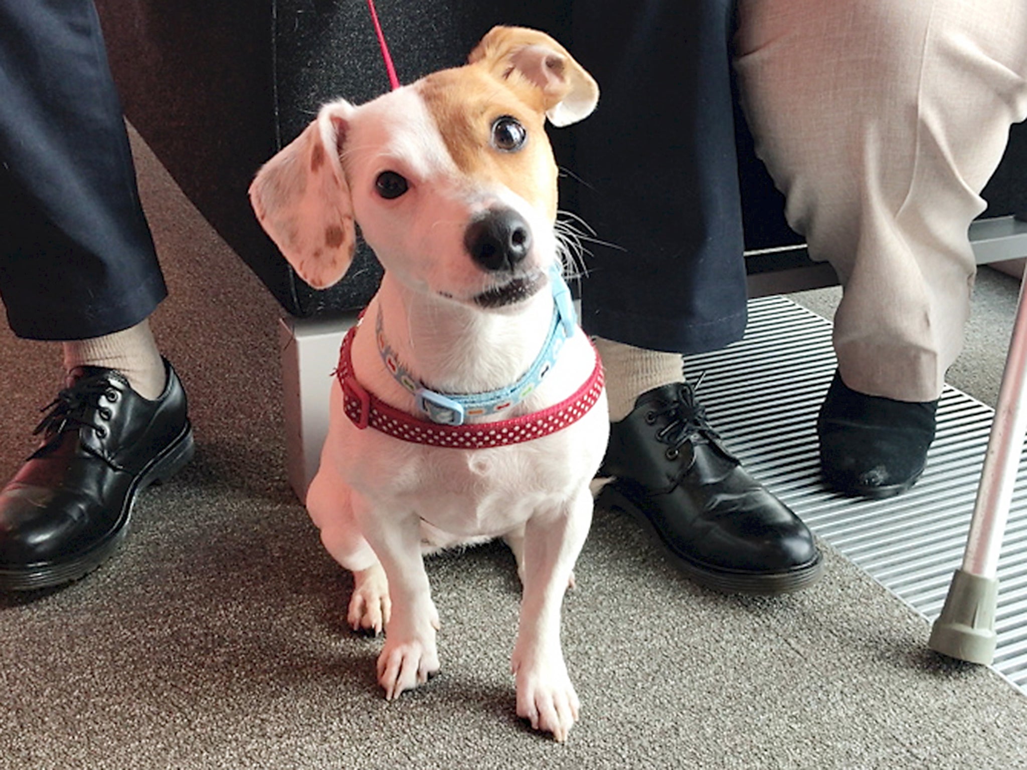
[[517, 716], [531, 722], [535, 730], [553, 733], [559, 741], [567, 740], [577, 721], [580, 703], [567, 675], [563, 657], [550, 663], [521, 661], [514, 658], [517, 676]]

